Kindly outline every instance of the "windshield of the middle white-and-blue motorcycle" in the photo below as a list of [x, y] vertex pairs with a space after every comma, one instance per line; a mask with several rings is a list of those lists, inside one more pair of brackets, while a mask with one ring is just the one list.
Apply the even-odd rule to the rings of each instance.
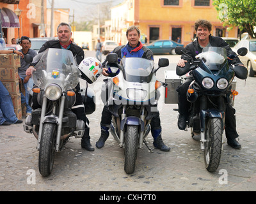
[[124, 57], [120, 63], [124, 68], [124, 78], [127, 82], [150, 82], [154, 61], [140, 57]]

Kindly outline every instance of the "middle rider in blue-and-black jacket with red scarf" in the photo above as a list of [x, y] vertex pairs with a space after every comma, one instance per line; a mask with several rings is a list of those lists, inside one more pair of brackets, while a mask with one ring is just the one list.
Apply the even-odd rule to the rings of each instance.
[[[119, 59], [122, 59], [123, 57], [141, 57], [149, 60], [154, 60], [153, 53], [150, 49], [147, 47], [144, 47], [140, 40], [140, 30], [138, 27], [132, 25], [130, 26], [126, 31], [126, 37], [129, 41], [127, 45], [121, 45], [119, 47], [116, 47], [113, 52], [118, 55]], [[106, 61], [102, 63], [102, 66], [105, 67]], [[103, 75], [108, 77], [109, 74], [106, 73], [106, 68], [103, 70]], [[109, 136], [109, 126], [111, 124], [111, 113], [108, 110], [108, 106], [105, 105], [102, 111], [101, 121], [100, 121], [100, 128], [101, 128], [101, 135], [99, 140], [96, 142], [97, 148], [102, 148], [104, 146], [104, 143], [108, 139]], [[164, 142], [162, 140], [161, 136], [161, 122], [159, 117], [159, 112], [157, 112], [157, 116], [153, 117], [151, 122], [151, 133], [154, 138], [154, 147], [157, 149], [160, 149], [162, 151], [169, 151], [170, 147], [167, 147], [164, 145]]]

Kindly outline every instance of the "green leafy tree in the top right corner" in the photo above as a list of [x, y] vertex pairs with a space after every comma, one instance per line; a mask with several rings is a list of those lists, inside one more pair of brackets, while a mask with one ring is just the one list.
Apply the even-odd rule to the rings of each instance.
[[256, 26], [256, 0], [214, 0], [213, 4], [224, 26], [238, 26], [256, 38], [253, 31]]

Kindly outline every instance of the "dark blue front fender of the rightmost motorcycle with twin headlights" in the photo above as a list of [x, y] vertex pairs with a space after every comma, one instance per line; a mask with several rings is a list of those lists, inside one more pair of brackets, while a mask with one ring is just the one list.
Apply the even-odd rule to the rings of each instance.
[[[209, 109], [209, 110], [201, 110], [200, 111], [200, 126], [201, 126], [201, 132], [204, 132], [205, 130], [205, 120], [206, 118], [220, 118], [221, 121], [223, 121], [223, 115], [225, 113], [220, 112], [219, 110], [216, 109]], [[224, 125], [221, 125], [224, 127]]]

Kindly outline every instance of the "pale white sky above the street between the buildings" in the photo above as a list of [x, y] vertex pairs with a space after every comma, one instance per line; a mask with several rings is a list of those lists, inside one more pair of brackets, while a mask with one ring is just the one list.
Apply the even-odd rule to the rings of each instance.
[[[116, 6], [124, 0], [54, 0], [54, 8], [69, 8], [69, 15], [75, 13], [75, 21], [90, 20], [93, 13], [98, 13], [97, 4], [109, 3]], [[52, 0], [47, 0], [47, 8], [51, 8]]]

